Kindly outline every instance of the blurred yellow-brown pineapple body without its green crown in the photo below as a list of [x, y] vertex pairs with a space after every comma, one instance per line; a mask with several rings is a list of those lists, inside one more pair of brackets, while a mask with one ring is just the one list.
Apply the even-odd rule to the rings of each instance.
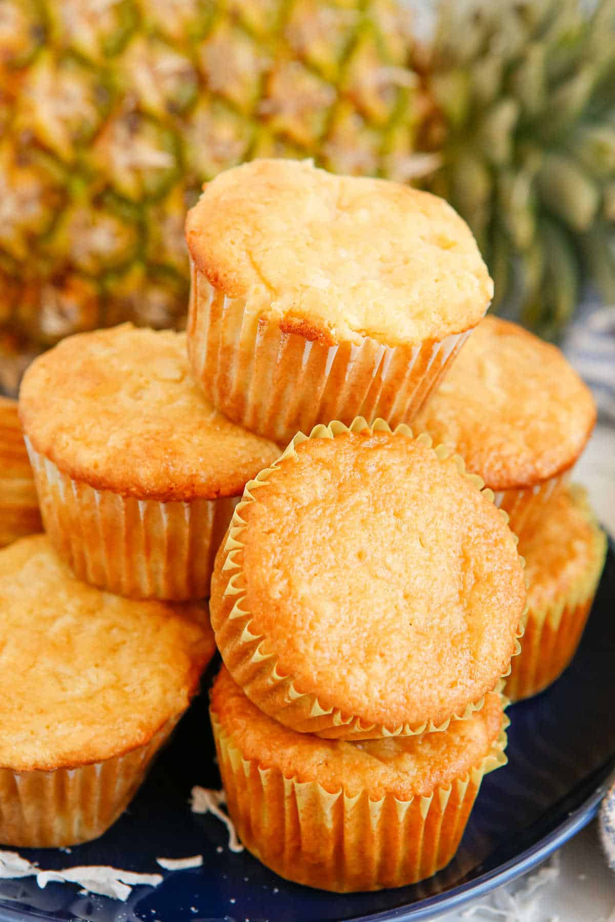
[[395, 0], [0, 0], [0, 386], [59, 338], [183, 324], [183, 218], [255, 156], [416, 178]]

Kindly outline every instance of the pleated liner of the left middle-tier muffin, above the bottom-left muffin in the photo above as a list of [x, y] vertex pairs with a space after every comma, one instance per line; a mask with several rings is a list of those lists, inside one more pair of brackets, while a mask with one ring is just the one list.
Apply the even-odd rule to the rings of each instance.
[[45, 531], [78, 579], [133, 598], [208, 597], [239, 497], [158, 502], [94, 490], [26, 443]]

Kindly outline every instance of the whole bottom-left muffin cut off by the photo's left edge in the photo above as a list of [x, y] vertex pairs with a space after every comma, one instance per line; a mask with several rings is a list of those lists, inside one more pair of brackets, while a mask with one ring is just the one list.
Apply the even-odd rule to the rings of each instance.
[[76, 845], [125, 809], [214, 652], [205, 603], [79, 583], [49, 538], [0, 551], [0, 844]]

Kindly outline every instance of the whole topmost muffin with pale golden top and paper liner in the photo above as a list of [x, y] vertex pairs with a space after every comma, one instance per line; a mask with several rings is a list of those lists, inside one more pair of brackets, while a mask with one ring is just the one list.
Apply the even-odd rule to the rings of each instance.
[[186, 240], [195, 377], [231, 420], [285, 445], [359, 414], [410, 421], [493, 292], [443, 199], [309, 160], [220, 173]]

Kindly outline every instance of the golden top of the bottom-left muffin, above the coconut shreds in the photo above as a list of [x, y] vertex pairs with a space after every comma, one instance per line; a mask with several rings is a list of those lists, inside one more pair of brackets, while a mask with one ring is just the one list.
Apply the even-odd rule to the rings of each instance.
[[207, 608], [79, 583], [48, 538], [0, 551], [0, 767], [51, 770], [144, 745], [214, 653]]

